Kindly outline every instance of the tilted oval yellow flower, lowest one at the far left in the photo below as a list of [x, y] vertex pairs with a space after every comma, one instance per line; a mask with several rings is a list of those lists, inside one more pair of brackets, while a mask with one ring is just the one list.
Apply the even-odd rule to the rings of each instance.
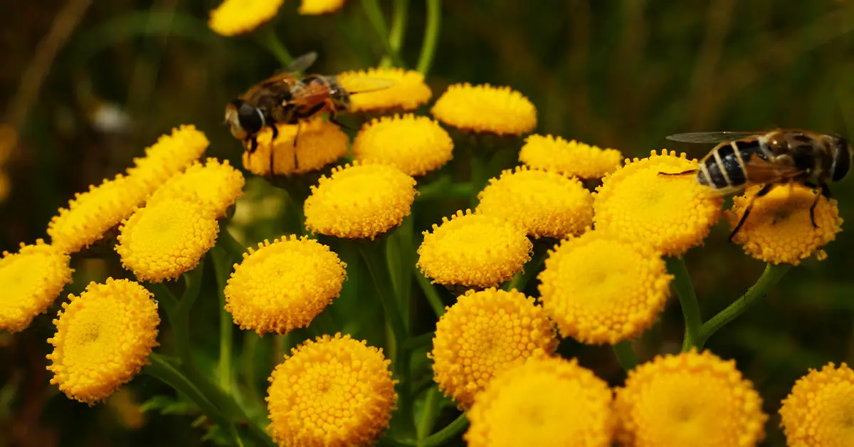
[[54, 320], [56, 335], [48, 338], [54, 345], [47, 356], [50, 383], [69, 398], [97, 403], [149, 363], [158, 345], [157, 303], [142, 285], [112, 278], [69, 298]]

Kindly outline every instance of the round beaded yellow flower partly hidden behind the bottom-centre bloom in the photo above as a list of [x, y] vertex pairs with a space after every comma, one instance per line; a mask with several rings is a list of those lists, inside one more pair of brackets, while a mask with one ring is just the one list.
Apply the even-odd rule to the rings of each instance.
[[496, 374], [557, 348], [552, 322], [534, 298], [516, 290], [466, 291], [436, 323], [433, 379], [465, 409]]

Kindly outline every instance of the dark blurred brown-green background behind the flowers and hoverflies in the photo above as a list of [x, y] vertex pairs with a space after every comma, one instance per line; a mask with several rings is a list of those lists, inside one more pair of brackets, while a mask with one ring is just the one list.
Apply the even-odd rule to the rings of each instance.
[[[389, 14], [391, 2], [381, 4]], [[217, 5], [0, 4], [0, 250], [46, 238], [50, 217], [74, 192], [122, 172], [173, 126], [195, 124], [211, 140], [208, 156], [242, 166], [240, 144], [221, 125], [225, 103], [279, 66], [254, 36], [210, 31], [208, 12]], [[313, 71], [377, 64], [383, 47], [360, 2], [326, 16], [297, 15], [297, 7], [285, 1], [272, 26], [293, 55], [319, 52]], [[424, 2], [410, 2], [401, 52], [410, 68], [418, 60], [424, 18]], [[854, 138], [852, 28], [854, 3], [831, 0], [443, 2], [427, 82], [434, 99], [455, 82], [510, 85], [535, 103], [538, 133], [629, 157], [668, 148], [699, 158], [711, 147], [664, 137], [784, 126]], [[251, 174], [247, 179], [247, 206], [238, 205], [235, 232], [249, 244], [278, 237], [286, 202], [281, 191]], [[854, 221], [854, 179], [833, 191], [845, 228]], [[417, 215], [416, 234], [456, 208]], [[687, 254], [704, 318], [731, 303], [764, 268], [728, 244], [727, 233], [719, 224], [705, 246]], [[767, 445], [785, 444], [776, 411], [795, 379], [826, 362], [854, 361], [854, 258], [848, 255], [854, 234], [839, 233], [826, 250], [826, 261], [793, 268], [767, 299], [707, 344], [735, 359], [761, 392], [771, 415]], [[209, 444], [201, 439], [204, 430], [192, 426], [195, 415], [140, 413], [139, 403], [169, 392], [148, 377], [91, 408], [49, 385], [45, 339], [54, 331], [50, 320], [58, 303], [90, 280], [130, 274], [109, 247], [73, 257], [73, 268], [74, 283], [47, 315], [15, 336], [0, 333], [0, 446]], [[536, 294], [535, 281], [527, 291]], [[205, 325], [216, 330], [215, 306], [206, 312], [210, 321], [196, 326], [198, 343], [215, 350], [216, 340], [204, 338]], [[424, 314], [426, 332], [433, 315], [426, 307]], [[678, 350], [682, 330], [673, 299], [636, 344], [639, 356]], [[614, 385], [623, 380], [607, 347], [565, 341], [561, 352], [578, 356]]]

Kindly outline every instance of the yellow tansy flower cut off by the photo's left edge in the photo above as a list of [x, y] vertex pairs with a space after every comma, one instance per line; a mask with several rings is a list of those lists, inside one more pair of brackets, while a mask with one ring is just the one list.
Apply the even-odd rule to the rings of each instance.
[[0, 256], [0, 331], [19, 332], [30, 326], [32, 319], [44, 314], [71, 282], [73, 269], [69, 256], [56, 247], [44, 244], [20, 244], [17, 253], [3, 251]]

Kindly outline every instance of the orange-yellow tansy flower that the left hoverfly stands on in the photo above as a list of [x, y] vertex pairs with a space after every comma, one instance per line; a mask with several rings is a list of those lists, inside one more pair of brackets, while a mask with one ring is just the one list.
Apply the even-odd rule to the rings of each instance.
[[[280, 124], [278, 138], [272, 139], [272, 130], [265, 127], [258, 134], [258, 149], [252, 154], [243, 151], [243, 168], [255, 175], [270, 174], [270, 150], [272, 147], [273, 173], [281, 175], [305, 174], [317, 171], [347, 154], [350, 138], [346, 133], [320, 117], [299, 125]], [[299, 135], [297, 135], [299, 127]], [[296, 139], [296, 170], [294, 170], [294, 139]]]

